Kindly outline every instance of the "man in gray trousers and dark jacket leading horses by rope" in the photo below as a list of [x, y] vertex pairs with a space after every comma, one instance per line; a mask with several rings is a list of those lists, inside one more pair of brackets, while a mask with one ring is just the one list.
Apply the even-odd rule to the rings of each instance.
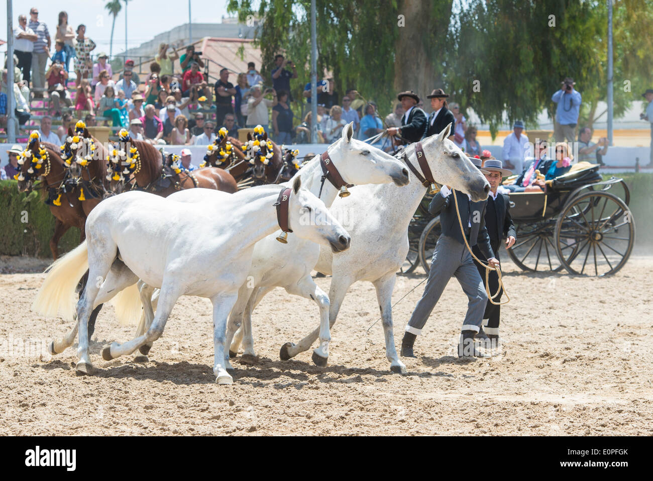
[[[458, 222], [453, 195], [449, 186], [442, 186], [428, 206], [428, 212], [434, 216], [439, 214], [442, 234], [433, 253], [424, 293], [417, 302], [415, 310], [413, 310], [413, 314], [406, 325], [401, 350], [401, 355], [404, 357], [415, 357], [413, 343], [417, 336], [422, 333], [422, 327], [424, 327], [433, 308], [436, 307], [436, 303], [438, 303], [442, 291], [444, 291], [451, 276], [458, 279], [462, 290], [469, 299], [467, 314], [462, 323], [458, 356], [485, 357], [485, 354], [474, 348], [473, 342], [476, 333], [481, 328], [487, 295], [481, 276], [479, 276], [460, 232], [460, 223]], [[470, 246], [478, 244], [486, 259], [489, 259], [490, 265], [498, 266], [499, 261], [494, 258], [494, 253], [490, 247], [490, 238], [485, 228], [487, 201], [472, 202], [467, 194], [458, 191], [456, 191], [456, 199], [458, 199], [460, 220], [468, 243]]]

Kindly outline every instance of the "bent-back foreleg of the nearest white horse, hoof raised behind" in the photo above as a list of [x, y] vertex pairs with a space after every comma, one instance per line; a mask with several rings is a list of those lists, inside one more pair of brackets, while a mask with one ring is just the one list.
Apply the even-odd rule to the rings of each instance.
[[[170, 274], [169, 277], [174, 278], [174, 275]], [[163, 278], [163, 285], [161, 286], [161, 294], [159, 295], [157, 313], [148, 331], [132, 340], [123, 342], [123, 344], [112, 342], [109, 346], [105, 346], [102, 350], [103, 359], [110, 361], [111, 359], [116, 359], [116, 357], [132, 354], [140, 346], [146, 343], [151, 344], [151, 342], [159, 339], [163, 334], [163, 329], [165, 329], [168, 316], [170, 316], [172, 308], [181, 295], [183, 295], [183, 291], [180, 290], [178, 282], [168, 280], [168, 276], [165, 276]]]

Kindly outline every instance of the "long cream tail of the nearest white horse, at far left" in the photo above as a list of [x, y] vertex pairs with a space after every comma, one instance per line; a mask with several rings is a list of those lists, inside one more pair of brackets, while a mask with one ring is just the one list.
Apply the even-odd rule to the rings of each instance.
[[88, 244], [84, 240], [46, 269], [48, 275], [32, 303], [32, 310], [46, 317], [56, 317], [61, 312], [64, 318], [74, 318], [77, 284], [87, 270]]

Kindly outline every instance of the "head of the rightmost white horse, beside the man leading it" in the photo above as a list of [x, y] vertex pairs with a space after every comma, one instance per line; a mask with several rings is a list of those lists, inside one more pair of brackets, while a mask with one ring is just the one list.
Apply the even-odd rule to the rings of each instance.
[[[431, 135], [422, 141], [424, 156], [433, 179], [439, 184], [469, 194], [474, 202], [483, 201], [488, 197], [490, 184], [464, 152], [447, 138], [451, 131], [453, 131], [453, 124], [447, 125], [439, 134]], [[411, 144], [406, 152], [413, 165], [417, 163], [414, 146], [415, 144]], [[422, 170], [419, 165], [415, 165], [415, 168]]]

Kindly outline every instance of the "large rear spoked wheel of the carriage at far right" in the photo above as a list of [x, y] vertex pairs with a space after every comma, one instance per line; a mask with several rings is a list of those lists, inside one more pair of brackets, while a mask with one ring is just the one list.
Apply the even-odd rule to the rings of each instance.
[[[584, 212], [586, 205], [588, 212]], [[556, 253], [570, 274], [614, 274], [628, 261], [634, 242], [632, 213], [608, 192], [579, 195], [556, 222]]]

